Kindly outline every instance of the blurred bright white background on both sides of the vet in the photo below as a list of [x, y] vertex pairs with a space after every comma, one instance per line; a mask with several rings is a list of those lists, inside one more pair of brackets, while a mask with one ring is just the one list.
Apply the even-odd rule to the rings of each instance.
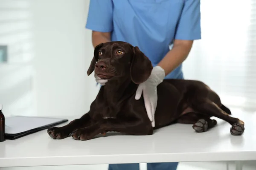
[[[93, 57], [85, 29], [89, 2], [0, 0], [0, 103], [6, 116], [65, 118], [89, 110], [99, 90], [86, 73]], [[256, 113], [256, 0], [201, 0], [201, 30], [183, 64], [185, 78], [204, 81], [231, 109]], [[95, 169], [100, 167], [106, 170]]]

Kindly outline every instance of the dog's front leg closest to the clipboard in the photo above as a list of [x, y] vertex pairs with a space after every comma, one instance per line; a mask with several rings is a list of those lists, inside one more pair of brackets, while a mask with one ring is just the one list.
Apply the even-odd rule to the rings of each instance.
[[75, 119], [69, 124], [62, 127], [51, 127], [47, 130], [49, 136], [53, 139], [64, 139], [70, 136], [70, 133], [76, 129], [90, 126], [93, 123], [93, 120], [90, 118], [90, 115], [84, 114], [80, 119]]

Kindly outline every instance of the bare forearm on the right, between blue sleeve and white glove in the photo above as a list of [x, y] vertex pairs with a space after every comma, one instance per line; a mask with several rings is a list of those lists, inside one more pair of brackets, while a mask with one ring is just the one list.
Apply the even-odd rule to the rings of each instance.
[[159, 66], [163, 68], [165, 74], [171, 73], [177, 68], [189, 55], [192, 48], [193, 41], [176, 40], [173, 48], [166, 54], [166, 56], [159, 62]]

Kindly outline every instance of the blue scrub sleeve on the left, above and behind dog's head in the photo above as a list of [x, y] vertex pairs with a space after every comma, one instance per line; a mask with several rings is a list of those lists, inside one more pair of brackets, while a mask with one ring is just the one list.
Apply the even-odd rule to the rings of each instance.
[[87, 23], [85, 28], [99, 32], [112, 31], [112, 0], [90, 0]]

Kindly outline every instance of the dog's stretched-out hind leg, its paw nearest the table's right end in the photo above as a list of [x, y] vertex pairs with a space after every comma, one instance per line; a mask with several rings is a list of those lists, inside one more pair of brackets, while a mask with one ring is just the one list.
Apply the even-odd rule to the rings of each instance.
[[230, 133], [232, 135], [241, 135], [244, 132], [243, 121], [230, 116], [212, 101], [204, 100], [204, 102], [193, 102], [192, 108], [196, 111], [199, 111], [200, 113], [207, 114], [209, 116], [215, 116], [229, 122], [230, 125], [232, 125], [230, 129]]

